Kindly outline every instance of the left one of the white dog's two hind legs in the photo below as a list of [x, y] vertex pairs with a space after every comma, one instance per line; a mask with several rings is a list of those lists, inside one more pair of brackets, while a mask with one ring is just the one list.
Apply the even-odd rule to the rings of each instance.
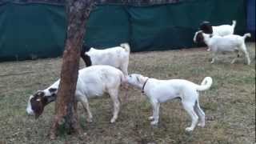
[[191, 126], [186, 127], [186, 131], [194, 130], [194, 127], [198, 123], [198, 114], [194, 111], [194, 104], [195, 102], [182, 102], [184, 109], [188, 114], [190, 114], [190, 118], [192, 119]]

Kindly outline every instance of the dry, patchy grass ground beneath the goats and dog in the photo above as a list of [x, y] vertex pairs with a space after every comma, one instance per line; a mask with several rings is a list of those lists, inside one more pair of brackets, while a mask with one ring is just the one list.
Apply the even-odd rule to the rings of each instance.
[[[83, 135], [60, 130], [57, 140], [47, 134], [54, 114], [54, 102], [35, 120], [26, 114], [30, 94], [45, 89], [58, 79], [61, 58], [0, 63], [0, 143], [254, 143], [255, 142], [255, 43], [247, 43], [252, 63], [243, 57], [230, 64], [234, 54], [225, 54], [210, 64], [206, 48], [143, 52], [130, 55], [130, 73], [168, 79], [185, 78], [201, 83], [214, 79], [210, 90], [200, 93], [206, 113], [206, 127], [185, 132], [190, 117], [174, 100], [161, 106], [158, 126], [150, 126], [150, 103], [141, 90], [130, 88], [129, 101], [123, 102], [118, 120], [110, 124], [110, 98], [90, 99], [94, 122], [86, 122], [79, 106]], [[81, 61], [81, 68], [84, 67]], [[120, 92], [123, 100], [124, 90]]]

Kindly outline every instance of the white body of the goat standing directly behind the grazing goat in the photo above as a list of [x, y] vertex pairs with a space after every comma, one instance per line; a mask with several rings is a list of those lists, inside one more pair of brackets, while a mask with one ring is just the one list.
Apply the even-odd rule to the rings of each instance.
[[128, 75], [128, 64], [130, 46], [122, 43], [120, 46], [105, 50], [96, 50], [93, 47], [86, 52], [90, 56], [92, 65], [109, 65], [122, 70], [123, 74]]

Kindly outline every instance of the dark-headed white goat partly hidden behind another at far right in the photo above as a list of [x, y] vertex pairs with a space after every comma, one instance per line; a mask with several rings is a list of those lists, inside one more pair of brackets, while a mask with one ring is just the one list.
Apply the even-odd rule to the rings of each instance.
[[210, 22], [202, 22], [200, 25], [200, 30], [205, 34], [213, 34], [218, 36], [226, 36], [229, 34], [234, 34], [234, 27], [236, 26], [236, 21], [232, 21], [232, 25], [221, 25], [221, 26], [211, 26]]

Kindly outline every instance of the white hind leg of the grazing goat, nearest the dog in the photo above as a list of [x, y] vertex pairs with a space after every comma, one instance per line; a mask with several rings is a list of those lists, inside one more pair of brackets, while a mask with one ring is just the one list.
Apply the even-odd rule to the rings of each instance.
[[110, 94], [110, 98], [114, 102], [113, 117], [111, 118], [110, 122], [114, 123], [116, 121], [116, 119], [118, 118], [118, 113], [119, 113], [119, 110], [120, 110], [120, 102], [119, 102], [119, 99], [118, 99], [118, 89], [110, 90], [109, 94]]

